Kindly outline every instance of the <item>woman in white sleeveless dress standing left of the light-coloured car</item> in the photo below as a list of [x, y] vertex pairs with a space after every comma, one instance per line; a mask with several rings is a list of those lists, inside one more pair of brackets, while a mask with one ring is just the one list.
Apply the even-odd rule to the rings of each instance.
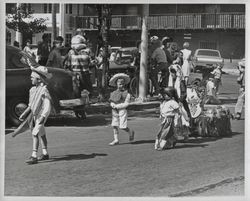
[[191, 61], [191, 53], [192, 53], [192, 51], [189, 50], [188, 48], [189, 48], [189, 43], [185, 42], [183, 44], [183, 49], [181, 50], [183, 53], [182, 73], [183, 73], [186, 85], [188, 85], [188, 79], [189, 79], [190, 71], [191, 71], [190, 61]]

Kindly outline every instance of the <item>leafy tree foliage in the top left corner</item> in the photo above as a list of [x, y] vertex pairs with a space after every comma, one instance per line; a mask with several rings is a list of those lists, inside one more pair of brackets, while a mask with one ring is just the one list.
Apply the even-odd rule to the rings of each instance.
[[47, 29], [44, 18], [33, 18], [33, 11], [29, 10], [25, 4], [12, 8], [6, 18], [6, 26], [9, 29], [21, 33], [40, 33]]

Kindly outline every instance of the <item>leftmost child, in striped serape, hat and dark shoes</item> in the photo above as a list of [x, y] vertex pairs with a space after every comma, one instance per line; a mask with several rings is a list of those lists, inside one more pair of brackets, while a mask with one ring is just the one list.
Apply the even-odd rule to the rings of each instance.
[[[19, 119], [21, 121], [27, 120], [31, 128], [33, 139], [33, 151], [31, 157], [26, 161], [28, 164], [36, 164], [40, 160], [48, 160], [49, 154], [47, 151], [47, 138], [44, 124], [51, 112], [52, 100], [47, 89], [47, 79], [52, 77], [48, 73], [48, 69], [44, 66], [31, 66], [31, 82], [34, 85], [29, 93], [29, 105], [27, 109], [21, 114]], [[39, 147], [39, 138], [42, 145], [42, 155], [37, 156]]]

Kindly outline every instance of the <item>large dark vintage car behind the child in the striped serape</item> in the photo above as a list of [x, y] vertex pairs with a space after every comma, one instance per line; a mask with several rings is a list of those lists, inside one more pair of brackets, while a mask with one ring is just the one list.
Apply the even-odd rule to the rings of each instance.
[[[16, 47], [6, 46], [6, 120], [15, 126], [21, 123], [18, 118], [27, 107], [29, 89], [32, 87], [27, 57], [33, 59]], [[33, 59], [32, 62], [36, 61]], [[54, 103], [56, 109], [73, 109], [78, 117], [83, 109], [83, 117], [88, 97], [75, 97], [71, 72], [51, 67], [48, 67], [48, 71], [53, 75], [48, 87], [58, 100]]]

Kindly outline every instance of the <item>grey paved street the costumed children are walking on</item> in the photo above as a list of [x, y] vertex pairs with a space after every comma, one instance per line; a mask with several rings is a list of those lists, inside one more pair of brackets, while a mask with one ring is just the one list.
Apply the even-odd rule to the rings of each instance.
[[[223, 76], [220, 97], [233, 112], [238, 86]], [[234, 101], [231, 101], [233, 100]], [[5, 136], [5, 196], [220, 196], [244, 195], [244, 119], [232, 120], [232, 137], [190, 138], [172, 150], [153, 149], [158, 109], [129, 111], [133, 143], [120, 132], [110, 147], [109, 114], [50, 119], [49, 161], [25, 164], [30, 132]], [[7, 130], [6, 130], [6, 133]]]

